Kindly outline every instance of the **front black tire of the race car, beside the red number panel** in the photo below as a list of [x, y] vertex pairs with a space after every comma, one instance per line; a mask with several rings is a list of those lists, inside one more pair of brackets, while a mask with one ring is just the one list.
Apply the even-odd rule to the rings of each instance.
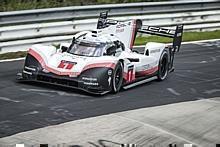
[[118, 62], [113, 71], [112, 77], [112, 93], [117, 93], [122, 87], [123, 83], [123, 65]]

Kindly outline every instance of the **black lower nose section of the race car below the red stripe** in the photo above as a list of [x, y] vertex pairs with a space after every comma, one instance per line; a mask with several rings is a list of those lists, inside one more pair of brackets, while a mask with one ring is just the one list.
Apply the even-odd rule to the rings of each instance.
[[27, 55], [22, 73], [18, 74], [20, 81], [46, 82], [82, 89], [89, 93], [105, 94], [111, 91], [113, 69], [111, 67], [90, 68], [78, 75], [57, 75], [42, 68], [41, 64], [30, 54]]

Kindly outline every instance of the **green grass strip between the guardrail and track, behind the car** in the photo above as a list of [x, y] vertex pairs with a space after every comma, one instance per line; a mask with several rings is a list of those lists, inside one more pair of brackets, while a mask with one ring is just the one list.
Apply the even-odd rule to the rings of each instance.
[[[197, 41], [207, 39], [220, 39], [220, 30], [210, 32], [185, 32], [183, 34], [183, 41]], [[135, 45], [144, 45], [147, 42], [170, 43], [172, 42], [172, 39], [158, 36], [137, 37]], [[19, 51], [13, 53], [0, 54], [0, 60], [25, 57], [26, 53], [27, 52], [25, 51]]]

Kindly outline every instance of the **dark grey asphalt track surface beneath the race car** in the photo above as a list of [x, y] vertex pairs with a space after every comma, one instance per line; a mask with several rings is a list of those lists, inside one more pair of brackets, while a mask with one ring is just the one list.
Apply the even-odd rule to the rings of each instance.
[[118, 94], [91, 96], [45, 84], [17, 83], [23, 61], [0, 63], [0, 137], [72, 120], [220, 96], [220, 41], [185, 44], [175, 72]]

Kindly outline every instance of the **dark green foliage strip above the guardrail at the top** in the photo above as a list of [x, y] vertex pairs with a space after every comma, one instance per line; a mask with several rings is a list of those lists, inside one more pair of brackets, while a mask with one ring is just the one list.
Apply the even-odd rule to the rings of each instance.
[[0, 0], [0, 11], [153, 1], [165, 0]]

